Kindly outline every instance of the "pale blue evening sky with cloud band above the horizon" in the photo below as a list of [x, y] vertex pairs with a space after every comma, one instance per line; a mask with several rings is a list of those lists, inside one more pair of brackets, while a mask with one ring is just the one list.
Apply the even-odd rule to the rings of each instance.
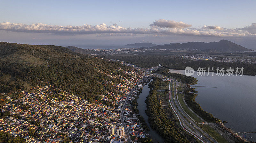
[[255, 0], [0, 0], [0, 41], [76, 45], [230, 40], [256, 49]]

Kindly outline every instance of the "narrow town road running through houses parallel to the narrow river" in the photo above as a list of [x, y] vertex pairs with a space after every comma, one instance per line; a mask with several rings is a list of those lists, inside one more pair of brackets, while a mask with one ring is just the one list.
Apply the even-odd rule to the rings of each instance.
[[124, 131], [125, 131], [125, 134], [126, 134], [126, 137], [127, 137], [127, 143], [131, 143], [131, 137], [130, 137], [130, 133], [129, 133], [127, 127], [126, 127], [126, 124], [124, 123], [124, 109], [126, 107], [126, 104], [128, 103], [129, 96], [132, 94], [133, 90], [138, 87], [138, 85], [142, 82], [142, 80], [145, 78], [145, 76], [146, 76], [146, 74], [143, 76], [143, 78], [140, 80], [140, 82], [131, 90], [131, 92], [127, 95], [127, 97], [125, 99], [125, 102], [124, 102], [124, 105], [121, 109], [120, 118], [121, 118], [121, 122], [124, 126]]

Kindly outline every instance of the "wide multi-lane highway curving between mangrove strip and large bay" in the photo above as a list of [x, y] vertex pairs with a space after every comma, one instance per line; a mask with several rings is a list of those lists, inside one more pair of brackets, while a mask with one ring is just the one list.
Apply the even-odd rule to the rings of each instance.
[[178, 87], [178, 85], [176, 85], [176, 80], [171, 80], [169, 83], [169, 103], [178, 117], [181, 127], [203, 143], [218, 143], [210, 135], [204, 132], [202, 128], [196, 125], [183, 111], [178, 100], [176, 87]]

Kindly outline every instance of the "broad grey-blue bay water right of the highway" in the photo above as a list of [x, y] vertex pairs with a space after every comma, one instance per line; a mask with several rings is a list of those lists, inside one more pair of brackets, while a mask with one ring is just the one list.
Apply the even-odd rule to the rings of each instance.
[[[184, 70], [172, 73], [185, 74]], [[198, 83], [193, 86], [198, 91], [195, 101], [204, 111], [222, 121], [235, 132], [256, 131], [256, 76], [197, 76]], [[207, 73], [206, 73], [207, 75]], [[210, 88], [217, 87], [217, 88]], [[256, 133], [239, 134], [244, 139], [256, 141]]]

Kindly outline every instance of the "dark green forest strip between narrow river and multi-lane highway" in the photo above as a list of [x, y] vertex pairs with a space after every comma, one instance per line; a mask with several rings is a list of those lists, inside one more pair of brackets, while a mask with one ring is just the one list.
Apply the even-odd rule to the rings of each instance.
[[188, 143], [188, 139], [182, 134], [183, 130], [175, 127], [173, 120], [170, 120], [157, 100], [157, 90], [161, 85], [159, 78], [154, 77], [148, 84], [150, 88], [146, 100], [148, 121], [152, 129], [165, 139], [165, 143]]

